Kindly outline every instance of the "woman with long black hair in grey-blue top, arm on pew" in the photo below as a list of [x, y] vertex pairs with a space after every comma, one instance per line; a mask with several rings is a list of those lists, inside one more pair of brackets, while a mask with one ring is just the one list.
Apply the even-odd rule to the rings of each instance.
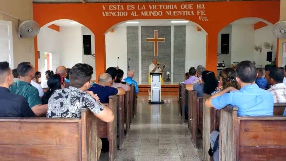
[[215, 78], [215, 73], [211, 71], [202, 72], [201, 84], [187, 84], [186, 89], [189, 91], [197, 91], [198, 97], [202, 97], [203, 93], [211, 94], [216, 90], [218, 86], [218, 80]]

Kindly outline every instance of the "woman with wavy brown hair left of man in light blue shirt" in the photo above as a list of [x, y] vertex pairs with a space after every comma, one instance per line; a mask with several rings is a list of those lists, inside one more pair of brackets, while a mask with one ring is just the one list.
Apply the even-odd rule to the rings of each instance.
[[214, 95], [215, 93], [218, 93], [228, 87], [240, 89], [239, 84], [236, 81], [236, 73], [234, 68], [225, 68], [221, 71], [218, 88], [216, 91], [212, 92], [211, 95]]

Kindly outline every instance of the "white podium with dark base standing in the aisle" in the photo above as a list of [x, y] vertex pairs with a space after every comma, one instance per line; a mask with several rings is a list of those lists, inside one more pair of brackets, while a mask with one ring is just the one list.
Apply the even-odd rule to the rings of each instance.
[[150, 80], [151, 100], [149, 100], [149, 103], [164, 103], [164, 101], [162, 101], [161, 94], [162, 73], [150, 73]]

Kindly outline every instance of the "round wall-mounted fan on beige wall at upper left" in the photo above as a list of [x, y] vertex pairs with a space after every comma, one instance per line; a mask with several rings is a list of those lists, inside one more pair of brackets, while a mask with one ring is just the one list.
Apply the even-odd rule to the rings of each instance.
[[34, 37], [40, 31], [40, 26], [36, 21], [26, 20], [19, 25], [18, 37]]

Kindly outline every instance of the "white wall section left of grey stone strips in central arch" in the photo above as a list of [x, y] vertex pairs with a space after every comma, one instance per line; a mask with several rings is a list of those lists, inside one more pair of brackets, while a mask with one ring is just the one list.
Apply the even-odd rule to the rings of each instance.
[[106, 33], [105, 47], [106, 68], [117, 67], [117, 57], [119, 57], [118, 66], [124, 71], [123, 78], [127, 77], [127, 36], [125, 25], [114, 27], [113, 33]]

